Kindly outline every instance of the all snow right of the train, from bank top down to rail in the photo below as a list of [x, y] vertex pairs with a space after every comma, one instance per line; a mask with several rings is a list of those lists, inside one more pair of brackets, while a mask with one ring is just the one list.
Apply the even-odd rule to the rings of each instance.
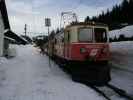
[[114, 42], [111, 47], [112, 81], [133, 96], [133, 41]]

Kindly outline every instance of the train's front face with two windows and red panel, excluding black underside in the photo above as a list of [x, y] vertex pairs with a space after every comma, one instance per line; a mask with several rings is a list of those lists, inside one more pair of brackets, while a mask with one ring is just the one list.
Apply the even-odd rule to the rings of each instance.
[[70, 57], [75, 61], [108, 62], [108, 40], [108, 28], [105, 26], [78, 26], [77, 41], [69, 45]]

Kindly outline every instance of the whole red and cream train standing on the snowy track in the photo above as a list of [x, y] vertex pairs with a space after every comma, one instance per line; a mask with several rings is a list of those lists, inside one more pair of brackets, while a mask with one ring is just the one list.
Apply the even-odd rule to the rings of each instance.
[[75, 80], [106, 84], [111, 80], [108, 31], [103, 23], [71, 23], [49, 38], [44, 51], [69, 70]]

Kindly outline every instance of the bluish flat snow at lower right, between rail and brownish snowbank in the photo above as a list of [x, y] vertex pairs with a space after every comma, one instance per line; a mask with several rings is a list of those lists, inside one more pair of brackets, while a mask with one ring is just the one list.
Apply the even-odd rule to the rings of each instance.
[[111, 71], [111, 84], [124, 89], [133, 97], [133, 73], [113, 68]]

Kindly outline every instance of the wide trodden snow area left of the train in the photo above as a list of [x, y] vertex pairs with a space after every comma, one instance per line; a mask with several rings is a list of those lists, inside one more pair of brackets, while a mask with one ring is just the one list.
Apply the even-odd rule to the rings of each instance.
[[13, 59], [0, 58], [0, 100], [104, 100], [85, 85], [75, 83], [38, 49], [16, 46]]

